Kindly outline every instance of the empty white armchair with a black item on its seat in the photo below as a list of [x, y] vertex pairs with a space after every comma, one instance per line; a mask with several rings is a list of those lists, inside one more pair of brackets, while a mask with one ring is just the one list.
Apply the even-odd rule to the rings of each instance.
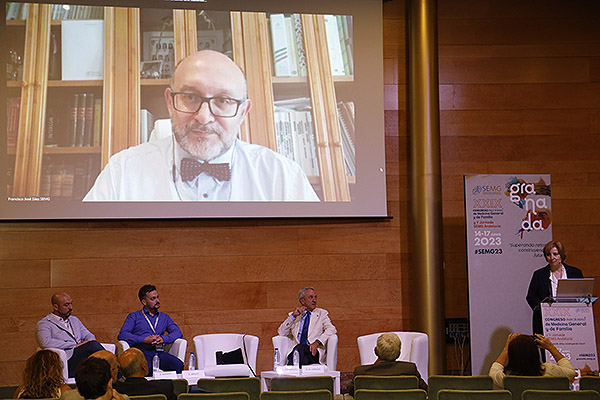
[[[256, 376], [258, 337], [241, 333], [215, 333], [194, 337], [197, 368], [206, 376]], [[242, 349], [244, 364], [217, 365], [217, 351], [223, 353]]]

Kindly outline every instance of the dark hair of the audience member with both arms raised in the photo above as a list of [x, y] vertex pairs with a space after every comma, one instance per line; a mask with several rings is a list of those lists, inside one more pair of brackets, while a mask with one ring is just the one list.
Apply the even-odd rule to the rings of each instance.
[[508, 363], [504, 367], [507, 375], [541, 376], [544, 367], [540, 362], [540, 351], [531, 335], [519, 335], [508, 344]]

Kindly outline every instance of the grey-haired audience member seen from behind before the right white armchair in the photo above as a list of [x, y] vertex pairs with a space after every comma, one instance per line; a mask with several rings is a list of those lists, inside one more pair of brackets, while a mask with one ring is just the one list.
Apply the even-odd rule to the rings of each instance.
[[[402, 342], [395, 333], [384, 333], [377, 338], [375, 355], [377, 360], [370, 365], [359, 365], [354, 368], [354, 377], [358, 375], [397, 376], [411, 375], [419, 379], [419, 388], [427, 390], [427, 383], [421, 378], [415, 363], [396, 361], [400, 356]], [[348, 392], [354, 396], [354, 380], [348, 385]]]

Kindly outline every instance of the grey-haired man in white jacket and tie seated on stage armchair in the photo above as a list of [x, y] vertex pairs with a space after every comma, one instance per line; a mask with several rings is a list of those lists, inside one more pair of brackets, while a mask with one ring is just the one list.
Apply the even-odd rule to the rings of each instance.
[[[279, 326], [277, 333], [288, 336], [294, 340], [300, 353], [300, 364], [325, 363], [325, 346], [330, 336], [337, 330], [329, 319], [329, 313], [322, 308], [317, 308], [317, 293], [313, 287], [305, 287], [298, 292], [300, 306], [296, 307]], [[288, 357], [291, 364], [292, 354]]]

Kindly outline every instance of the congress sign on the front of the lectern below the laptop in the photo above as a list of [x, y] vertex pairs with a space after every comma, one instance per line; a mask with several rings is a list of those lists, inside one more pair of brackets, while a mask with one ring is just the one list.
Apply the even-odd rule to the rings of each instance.
[[[598, 355], [592, 306], [584, 303], [542, 303], [546, 336], [581, 376], [598, 376]], [[546, 359], [554, 361], [546, 351]]]

